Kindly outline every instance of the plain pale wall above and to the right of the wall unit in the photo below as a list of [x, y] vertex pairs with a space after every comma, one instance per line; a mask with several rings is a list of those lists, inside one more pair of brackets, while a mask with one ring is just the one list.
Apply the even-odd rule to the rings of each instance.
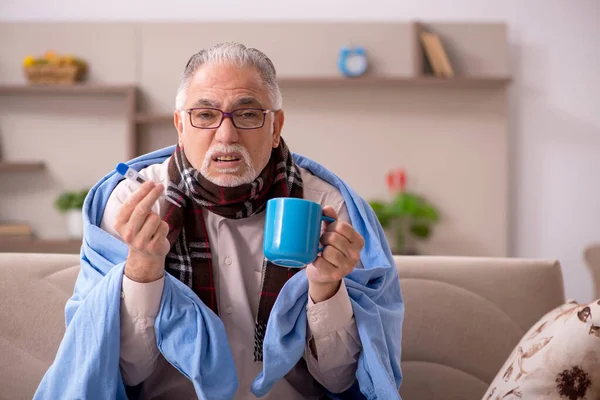
[[582, 252], [600, 241], [599, 1], [0, 1], [4, 21], [182, 19], [507, 22], [515, 78], [512, 253], [558, 258], [567, 296], [592, 298]]

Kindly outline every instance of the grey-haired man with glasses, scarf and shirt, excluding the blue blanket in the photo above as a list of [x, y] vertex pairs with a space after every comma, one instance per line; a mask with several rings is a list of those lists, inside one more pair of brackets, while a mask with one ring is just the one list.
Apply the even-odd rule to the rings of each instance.
[[[354, 382], [361, 344], [342, 278], [358, 263], [363, 238], [349, 224], [339, 191], [295, 166], [281, 137], [283, 123], [281, 93], [269, 58], [241, 44], [203, 50], [192, 56], [181, 79], [175, 155], [143, 169], [150, 182], [139, 190], [123, 181], [108, 200], [102, 228], [129, 246], [121, 371], [126, 384], [142, 384], [144, 398], [194, 397], [191, 382], [161, 356], [154, 334], [165, 268], [182, 281], [188, 279], [179, 258], [170, 253], [169, 232], [180, 226], [187, 240], [195, 236], [210, 243], [206, 258], [195, 261], [209, 265], [215, 290], [198, 294], [206, 304], [215, 304], [227, 331], [239, 379], [236, 399], [255, 398], [250, 386], [261, 369], [253, 353], [255, 321], [263, 311], [263, 211], [267, 200], [286, 195], [320, 203], [324, 214], [337, 222], [322, 236], [322, 255], [306, 268], [304, 360], [267, 398], [318, 399], [323, 396], [321, 385], [341, 392]], [[288, 193], [285, 180], [292, 177]], [[190, 187], [189, 197], [181, 185]], [[165, 187], [180, 198], [183, 209], [170, 203], [151, 209]], [[161, 215], [170, 212], [181, 215], [163, 221]], [[191, 250], [181, 234], [175, 243], [187, 247], [185, 253]]]

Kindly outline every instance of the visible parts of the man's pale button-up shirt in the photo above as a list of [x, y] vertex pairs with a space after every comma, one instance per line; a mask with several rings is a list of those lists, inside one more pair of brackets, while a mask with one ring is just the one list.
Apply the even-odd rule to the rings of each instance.
[[[147, 179], [168, 184], [169, 159], [141, 171]], [[349, 221], [343, 198], [327, 182], [300, 168], [304, 198], [333, 206], [339, 219]], [[120, 238], [114, 220], [135, 185], [120, 182], [104, 211], [101, 228]], [[160, 205], [154, 206], [159, 213]], [[262, 370], [254, 362], [254, 326], [258, 312], [262, 272], [264, 212], [244, 219], [227, 219], [204, 210], [212, 253], [217, 304], [239, 381], [236, 400], [256, 399], [250, 386]], [[303, 273], [303, 272], [301, 272]], [[158, 315], [164, 278], [138, 283], [123, 277], [121, 302], [121, 372], [127, 385], [141, 382], [142, 398], [196, 399], [192, 383], [173, 368], [156, 344], [154, 320]], [[320, 399], [323, 390], [341, 392], [355, 380], [360, 338], [348, 292], [342, 282], [329, 300], [307, 306], [307, 343], [303, 360], [262, 399]], [[314, 345], [313, 354], [310, 343]], [[304, 363], [305, 361], [305, 363]], [[314, 379], [313, 379], [314, 378]]]

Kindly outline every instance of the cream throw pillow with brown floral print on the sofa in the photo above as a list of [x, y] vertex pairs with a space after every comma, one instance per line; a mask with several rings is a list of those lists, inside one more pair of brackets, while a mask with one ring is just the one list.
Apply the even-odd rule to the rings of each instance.
[[572, 301], [523, 336], [483, 400], [600, 399], [600, 300]]

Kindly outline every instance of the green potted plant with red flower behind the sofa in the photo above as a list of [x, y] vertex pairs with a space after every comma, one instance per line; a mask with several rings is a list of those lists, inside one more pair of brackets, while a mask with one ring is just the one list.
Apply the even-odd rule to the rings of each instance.
[[406, 191], [406, 173], [402, 169], [390, 171], [386, 182], [392, 200], [370, 201], [382, 228], [393, 236], [392, 252], [398, 255], [418, 254], [416, 241], [431, 237], [439, 222], [437, 209], [424, 197]]

